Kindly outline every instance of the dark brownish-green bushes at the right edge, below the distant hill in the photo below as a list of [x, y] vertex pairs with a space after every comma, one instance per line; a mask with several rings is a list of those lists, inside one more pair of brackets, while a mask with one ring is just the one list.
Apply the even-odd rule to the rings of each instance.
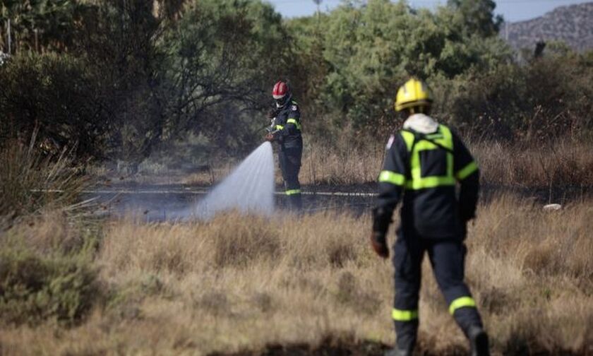
[[478, 138], [579, 139], [593, 131], [593, 66], [577, 54], [472, 73], [441, 85], [439, 94], [436, 114]]

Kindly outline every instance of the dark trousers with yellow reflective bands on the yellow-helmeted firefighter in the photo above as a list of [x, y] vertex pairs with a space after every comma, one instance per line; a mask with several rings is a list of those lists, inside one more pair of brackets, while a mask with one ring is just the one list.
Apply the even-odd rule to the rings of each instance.
[[429, 256], [450, 314], [466, 336], [470, 326], [482, 326], [475, 301], [464, 282], [466, 252], [462, 239], [424, 239], [398, 230], [393, 248], [395, 300], [392, 312], [398, 348], [412, 350], [416, 343], [424, 254]]

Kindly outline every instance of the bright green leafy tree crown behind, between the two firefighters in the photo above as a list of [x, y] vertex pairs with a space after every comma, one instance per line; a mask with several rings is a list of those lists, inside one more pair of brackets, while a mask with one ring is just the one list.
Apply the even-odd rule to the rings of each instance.
[[[304, 49], [311, 45], [301, 37], [320, 27], [328, 73], [316, 94], [347, 115], [349, 120], [340, 118], [336, 124], [350, 122], [362, 129], [378, 118], [393, 121], [393, 96], [408, 76], [455, 78], [510, 59], [510, 49], [495, 37], [491, 1], [469, 3], [458, 1], [431, 12], [414, 10], [406, 1], [347, 2], [319, 24], [299, 19], [289, 26], [296, 28], [297, 43]], [[466, 16], [478, 17], [469, 21]]]

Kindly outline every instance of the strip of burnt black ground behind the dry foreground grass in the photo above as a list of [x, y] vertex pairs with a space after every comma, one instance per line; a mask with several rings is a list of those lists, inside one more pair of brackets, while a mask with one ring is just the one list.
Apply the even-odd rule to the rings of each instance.
[[[203, 198], [210, 186], [152, 185], [152, 184], [110, 184], [97, 185], [83, 194], [84, 199], [96, 198], [97, 211], [107, 215], [135, 215], [147, 221], [169, 220], [175, 211], [193, 206]], [[355, 216], [369, 213], [377, 187], [375, 183], [349, 186], [319, 185], [303, 186], [305, 213], [349, 212]], [[275, 206], [287, 208], [287, 199], [277, 186]], [[566, 186], [563, 188], [484, 186], [481, 201], [489, 201], [500, 194], [512, 194], [535, 205], [546, 203], [571, 203], [593, 197], [593, 186]]]

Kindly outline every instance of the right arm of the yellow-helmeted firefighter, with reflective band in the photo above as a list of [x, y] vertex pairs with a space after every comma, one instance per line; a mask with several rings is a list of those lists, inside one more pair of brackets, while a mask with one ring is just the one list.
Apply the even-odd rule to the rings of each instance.
[[472, 220], [476, 216], [479, 198], [479, 169], [477, 162], [469, 153], [457, 134], [453, 133], [453, 170], [455, 178], [460, 183], [459, 217], [462, 223]]

